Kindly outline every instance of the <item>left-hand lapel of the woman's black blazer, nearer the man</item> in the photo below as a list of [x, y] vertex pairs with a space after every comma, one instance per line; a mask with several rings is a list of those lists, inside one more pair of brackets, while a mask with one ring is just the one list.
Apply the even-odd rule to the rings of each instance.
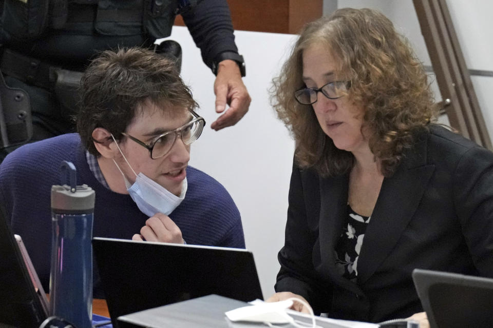
[[335, 267], [335, 245], [347, 215], [349, 175], [320, 178], [320, 219], [318, 226], [321, 270], [330, 281], [353, 293], [363, 294], [358, 286], [343, 278]]

